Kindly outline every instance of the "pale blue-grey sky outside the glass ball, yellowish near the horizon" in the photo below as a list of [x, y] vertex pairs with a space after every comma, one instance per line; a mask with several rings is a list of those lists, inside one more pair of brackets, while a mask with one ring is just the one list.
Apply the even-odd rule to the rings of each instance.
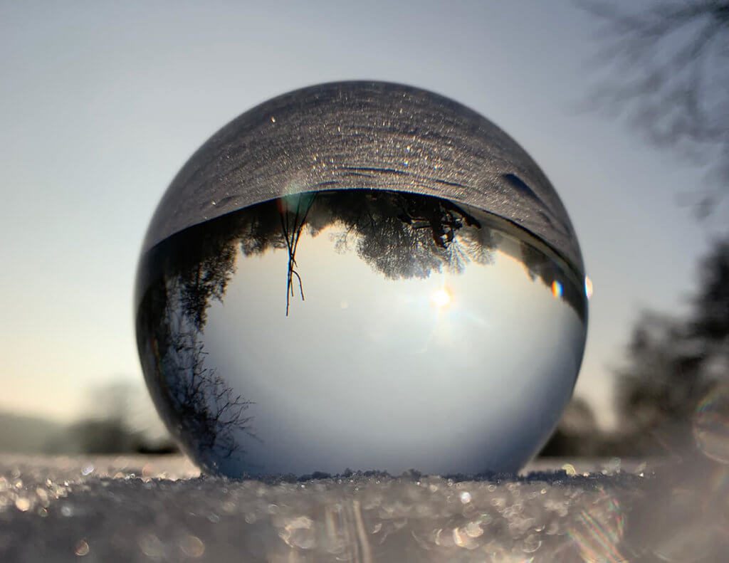
[[712, 225], [678, 203], [702, 171], [582, 109], [595, 30], [569, 1], [1, 2], [0, 410], [67, 421], [141, 381], [133, 280], [176, 171], [270, 97], [379, 79], [475, 109], [550, 178], [595, 287], [576, 392], [609, 424], [634, 320], [685, 306]]

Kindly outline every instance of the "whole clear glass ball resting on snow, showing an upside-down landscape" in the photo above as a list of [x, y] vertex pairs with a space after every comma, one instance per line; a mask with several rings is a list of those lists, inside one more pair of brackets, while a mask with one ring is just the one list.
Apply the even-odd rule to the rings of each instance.
[[397, 85], [300, 90], [182, 169], [137, 280], [147, 384], [209, 471], [517, 470], [569, 400], [579, 247], [518, 145]]

